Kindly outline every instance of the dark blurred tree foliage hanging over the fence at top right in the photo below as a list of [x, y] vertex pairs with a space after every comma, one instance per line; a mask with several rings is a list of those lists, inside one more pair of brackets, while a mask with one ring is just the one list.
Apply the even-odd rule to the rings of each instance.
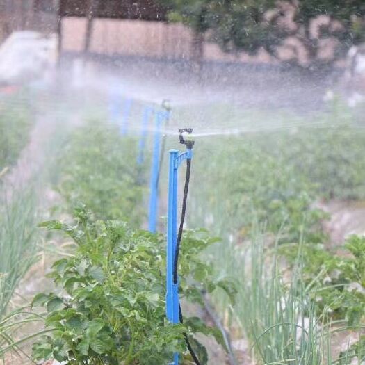
[[[327, 63], [319, 50], [327, 40], [337, 42], [334, 57], [354, 42], [364, 40], [365, 6], [362, 0], [161, 0], [170, 10], [170, 19], [188, 24], [195, 32], [207, 32], [209, 40], [224, 51], [253, 53], [263, 47], [279, 56], [277, 47], [295, 38], [300, 53], [308, 60], [293, 59], [299, 65]], [[330, 15], [323, 22], [321, 16]], [[318, 34], [313, 32], [318, 19]], [[294, 43], [291, 42], [291, 47]], [[289, 47], [290, 48], [290, 47]]]

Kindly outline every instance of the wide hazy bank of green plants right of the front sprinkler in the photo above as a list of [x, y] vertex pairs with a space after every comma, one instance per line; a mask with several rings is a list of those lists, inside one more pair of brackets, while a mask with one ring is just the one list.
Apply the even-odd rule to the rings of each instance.
[[[278, 117], [281, 128], [275, 131]], [[238, 111], [237, 119], [248, 130], [252, 120], [267, 122], [257, 126], [259, 133], [200, 140], [193, 179], [204, 176], [204, 184], [192, 184], [191, 222], [238, 238], [259, 222], [267, 225], [266, 232], [279, 232], [285, 243], [301, 236], [325, 243], [327, 214], [316, 202], [365, 198], [363, 129], [341, 105], [313, 118], [283, 114], [270, 119]]]

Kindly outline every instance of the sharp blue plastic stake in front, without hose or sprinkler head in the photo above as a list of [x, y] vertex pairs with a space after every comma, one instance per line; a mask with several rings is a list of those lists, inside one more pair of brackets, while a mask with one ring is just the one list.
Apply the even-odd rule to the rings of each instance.
[[[174, 258], [177, 244], [177, 172], [185, 159], [191, 159], [192, 149], [179, 154], [170, 150], [168, 175], [168, 235], [167, 235], [167, 272], [166, 272], [166, 317], [171, 323], [179, 323], [179, 280], [174, 284]], [[179, 354], [174, 354], [170, 365], [179, 364]]]

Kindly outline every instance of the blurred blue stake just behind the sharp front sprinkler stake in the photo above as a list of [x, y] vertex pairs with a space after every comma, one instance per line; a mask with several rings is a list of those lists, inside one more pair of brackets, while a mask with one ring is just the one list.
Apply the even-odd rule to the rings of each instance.
[[163, 115], [156, 113], [156, 130], [154, 132], [154, 150], [152, 154], [151, 181], [149, 184], [149, 232], [156, 232], [157, 209], [159, 198], [159, 170], [160, 170], [160, 145], [161, 145], [161, 122]]

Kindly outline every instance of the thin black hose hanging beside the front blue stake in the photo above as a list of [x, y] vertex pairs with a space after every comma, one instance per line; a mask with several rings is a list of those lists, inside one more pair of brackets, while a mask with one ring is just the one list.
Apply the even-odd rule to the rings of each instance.
[[[180, 243], [181, 243], [181, 237], [182, 237], [183, 228], [184, 228], [186, 203], [188, 202], [190, 170], [191, 170], [191, 159], [186, 159], [186, 176], [185, 176], [185, 186], [184, 186], [184, 197], [183, 197], [183, 202], [182, 202], [180, 226], [179, 226], [179, 232], [177, 234], [176, 250], [175, 250], [175, 257], [174, 257], [174, 284], [177, 284], [177, 266], [179, 263]], [[180, 321], [180, 323], [184, 323], [180, 302], [179, 302], [179, 321]], [[191, 357], [193, 357], [195, 364], [201, 365], [199, 359], [197, 358], [197, 355], [195, 355], [195, 352], [194, 352], [193, 348], [191, 347], [190, 341], [188, 339], [188, 335], [186, 333], [184, 333], [183, 336], [184, 336], [184, 340], [186, 342], [186, 347], [188, 348]]]

